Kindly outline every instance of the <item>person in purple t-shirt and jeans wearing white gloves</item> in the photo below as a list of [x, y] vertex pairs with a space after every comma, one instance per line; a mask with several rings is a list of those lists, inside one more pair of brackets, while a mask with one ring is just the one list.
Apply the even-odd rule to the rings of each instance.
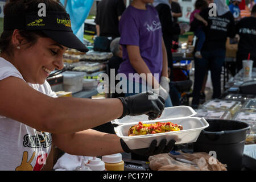
[[146, 91], [143, 88], [147, 84], [146, 89], [154, 88], [152, 91], [163, 96], [166, 107], [170, 107], [172, 103], [168, 94], [170, 80], [166, 47], [158, 12], [147, 5], [152, 2], [153, 0], [134, 0], [122, 14], [119, 22], [119, 44], [123, 48], [123, 62], [118, 73], [127, 77], [127, 87], [123, 85], [126, 96]]

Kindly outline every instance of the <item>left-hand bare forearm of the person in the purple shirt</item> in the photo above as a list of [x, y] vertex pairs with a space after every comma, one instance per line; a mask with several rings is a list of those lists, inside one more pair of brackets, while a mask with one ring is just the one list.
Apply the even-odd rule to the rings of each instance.
[[[139, 75], [141, 75], [141, 73], [145, 73], [146, 78], [144, 78], [144, 80], [148, 81], [147, 74], [152, 75], [152, 73], [150, 69], [147, 67], [147, 64], [144, 62], [144, 60], [141, 57], [139, 46], [127, 45], [126, 48], [127, 48], [131, 65]], [[152, 88], [159, 88], [158, 81], [155, 79], [154, 75], [152, 75], [151, 79], [152, 79]]]

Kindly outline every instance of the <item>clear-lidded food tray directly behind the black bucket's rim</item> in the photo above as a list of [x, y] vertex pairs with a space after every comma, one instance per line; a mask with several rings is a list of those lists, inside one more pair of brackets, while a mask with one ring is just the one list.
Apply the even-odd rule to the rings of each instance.
[[207, 118], [207, 119], [232, 119], [232, 115], [228, 110], [207, 110], [198, 109], [196, 110], [195, 117]]

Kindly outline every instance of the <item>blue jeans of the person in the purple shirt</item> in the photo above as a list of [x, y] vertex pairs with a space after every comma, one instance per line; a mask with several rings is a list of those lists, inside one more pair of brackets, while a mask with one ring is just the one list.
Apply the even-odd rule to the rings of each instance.
[[[131, 85], [133, 84], [133, 85]], [[130, 86], [129, 86], [130, 85]], [[133, 86], [133, 90], [129, 90], [129, 88]], [[137, 93], [142, 93], [142, 92], [146, 92], [147, 91], [147, 88], [146, 86], [142, 85], [141, 83], [138, 83], [138, 82], [133, 82], [133, 81], [130, 81], [130, 80], [127, 80], [127, 88], [123, 88], [123, 92], [125, 92], [125, 97], [128, 97], [128, 96], [133, 96]], [[129, 92], [130, 91], [130, 92]], [[171, 97], [170, 97], [170, 94], [166, 100], [166, 105], [165, 107], [172, 107], [172, 101], [171, 101]]]

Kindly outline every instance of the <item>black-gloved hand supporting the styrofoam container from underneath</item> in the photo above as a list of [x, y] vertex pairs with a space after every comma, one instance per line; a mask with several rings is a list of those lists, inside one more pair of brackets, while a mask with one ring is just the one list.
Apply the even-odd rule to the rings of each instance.
[[130, 150], [130, 148], [126, 145], [126, 143], [123, 141], [123, 139], [120, 139], [121, 146], [123, 148], [123, 151], [126, 153], [133, 152], [134, 154], [138, 155], [145, 155], [145, 156], [151, 156], [156, 154], [163, 154], [163, 153], [169, 153], [172, 148], [174, 148], [175, 140], [170, 140], [168, 144], [166, 145], [166, 139], [162, 139], [159, 143], [159, 146], [156, 147], [156, 144], [158, 143], [156, 139], [152, 140], [150, 146], [148, 148], [140, 148], [135, 150]]

